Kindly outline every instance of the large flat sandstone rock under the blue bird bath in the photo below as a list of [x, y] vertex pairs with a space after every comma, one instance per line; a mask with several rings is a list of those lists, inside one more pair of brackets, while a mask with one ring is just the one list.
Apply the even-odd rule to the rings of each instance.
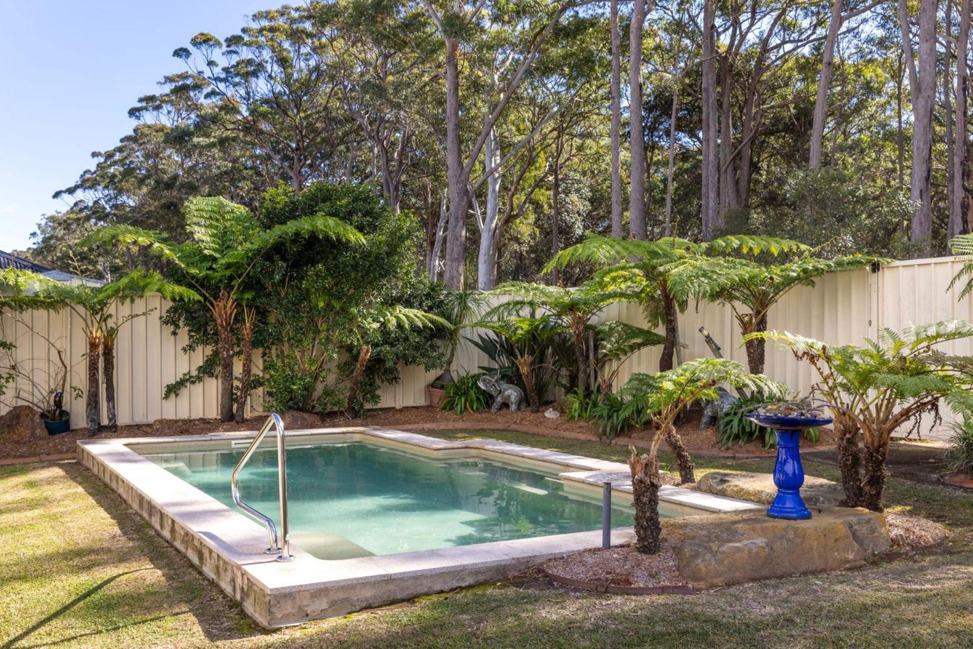
[[663, 538], [694, 588], [857, 567], [890, 545], [882, 514], [841, 508], [807, 521], [763, 514], [667, 519]]

